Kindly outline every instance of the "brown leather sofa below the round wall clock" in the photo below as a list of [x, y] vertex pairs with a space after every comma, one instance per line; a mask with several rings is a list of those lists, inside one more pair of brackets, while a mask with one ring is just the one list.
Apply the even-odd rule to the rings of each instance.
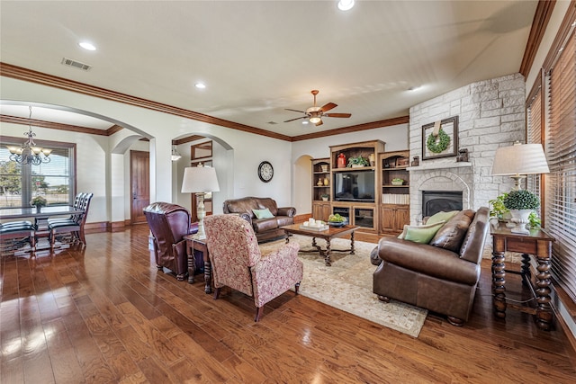
[[[254, 210], [270, 210], [274, 218], [257, 219]], [[258, 243], [284, 236], [284, 229], [280, 227], [294, 224], [296, 209], [294, 207], [278, 208], [274, 199], [266, 197], [244, 197], [224, 201], [224, 213], [237, 213], [247, 220], [254, 228]]]

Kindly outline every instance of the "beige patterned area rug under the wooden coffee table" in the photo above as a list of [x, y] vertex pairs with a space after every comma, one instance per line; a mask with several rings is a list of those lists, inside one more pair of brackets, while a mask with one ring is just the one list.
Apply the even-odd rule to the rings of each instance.
[[[383, 303], [372, 291], [373, 272], [376, 267], [370, 263], [370, 252], [374, 244], [356, 241], [356, 255], [350, 255], [349, 251], [336, 251], [349, 249], [350, 241], [336, 238], [330, 243], [332, 266], [326, 266], [324, 257], [318, 252], [302, 252], [311, 249], [311, 240], [311, 237], [302, 236], [290, 238], [291, 242], [297, 242], [301, 247], [298, 257], [304, 263], [304, 278], [299, 290], [302, 296], [418, 337], [428, 310], [394, 300]], [[316, 241], [324, 248], [324, 240]], [[283, 243], [284, 240], [264, 243], [260, 245], [260, 249], [266, 253]]]

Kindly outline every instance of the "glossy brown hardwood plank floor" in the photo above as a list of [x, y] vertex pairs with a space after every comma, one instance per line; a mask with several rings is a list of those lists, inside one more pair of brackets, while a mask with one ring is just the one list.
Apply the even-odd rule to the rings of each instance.
[[[4, 256], [2, 383], [574, 382], [560, 326], [491, 312], [490, 262], [463, 327], [429, 314], [418, 338], [287, 292], [254, 323], [253, 300], [213, 300], [157, 272], [148, 226], [86, 236], [84, 250]], [[514, 278], [509, 293], [521, 290]], [[521, 295], [520, 295], [521, 296]]]

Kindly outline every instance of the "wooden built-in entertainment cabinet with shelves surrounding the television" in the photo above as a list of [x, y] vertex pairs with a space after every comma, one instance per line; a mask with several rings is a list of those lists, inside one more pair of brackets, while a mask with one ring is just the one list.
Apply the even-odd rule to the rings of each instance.
[[[330, 147], [328, 158], [311, 161], [312, 217], [328, 220], [330, 214], [338, 213], [365, 232], [398, 235], [410, 223], [409, 156], [408, 150], [384, 152], [381, 140]], [[364, 164], [352, 165], [350, 158]], [[369, 201], [341, 200], [335, 191], [338, 174], [350, 171], [374, 172], [374, 191], [366, 192], [371, 195]]]

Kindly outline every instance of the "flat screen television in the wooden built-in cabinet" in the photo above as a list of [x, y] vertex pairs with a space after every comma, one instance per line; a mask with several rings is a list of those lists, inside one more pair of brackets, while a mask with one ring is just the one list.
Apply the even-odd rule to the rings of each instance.
[[334, 173], [334, 201], [374, 202], [374, 170]]

